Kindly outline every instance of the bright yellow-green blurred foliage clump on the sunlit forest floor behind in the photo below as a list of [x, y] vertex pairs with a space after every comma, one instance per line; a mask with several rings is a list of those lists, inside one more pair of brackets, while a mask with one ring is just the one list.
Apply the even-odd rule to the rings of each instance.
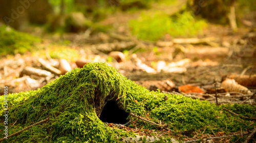
[[190, 12], [183, 12], [173, 17], [163, 13], [142, 13], [136, 20], [130, 21], [132, 34], [142, 40], [158, 40], [165, 34], [173, 37], [191, 37], [202, 32], [205, 21], [196, 20]]

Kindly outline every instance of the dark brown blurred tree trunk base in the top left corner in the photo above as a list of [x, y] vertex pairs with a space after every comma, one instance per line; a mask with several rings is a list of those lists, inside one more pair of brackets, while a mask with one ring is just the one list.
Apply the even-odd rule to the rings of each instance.
[[53, 12], [52, 7], [45, 0], [0, 0], [0, 21], [22, 29], [29, 23], [44, 24], [47, 22], [47, 15]]

